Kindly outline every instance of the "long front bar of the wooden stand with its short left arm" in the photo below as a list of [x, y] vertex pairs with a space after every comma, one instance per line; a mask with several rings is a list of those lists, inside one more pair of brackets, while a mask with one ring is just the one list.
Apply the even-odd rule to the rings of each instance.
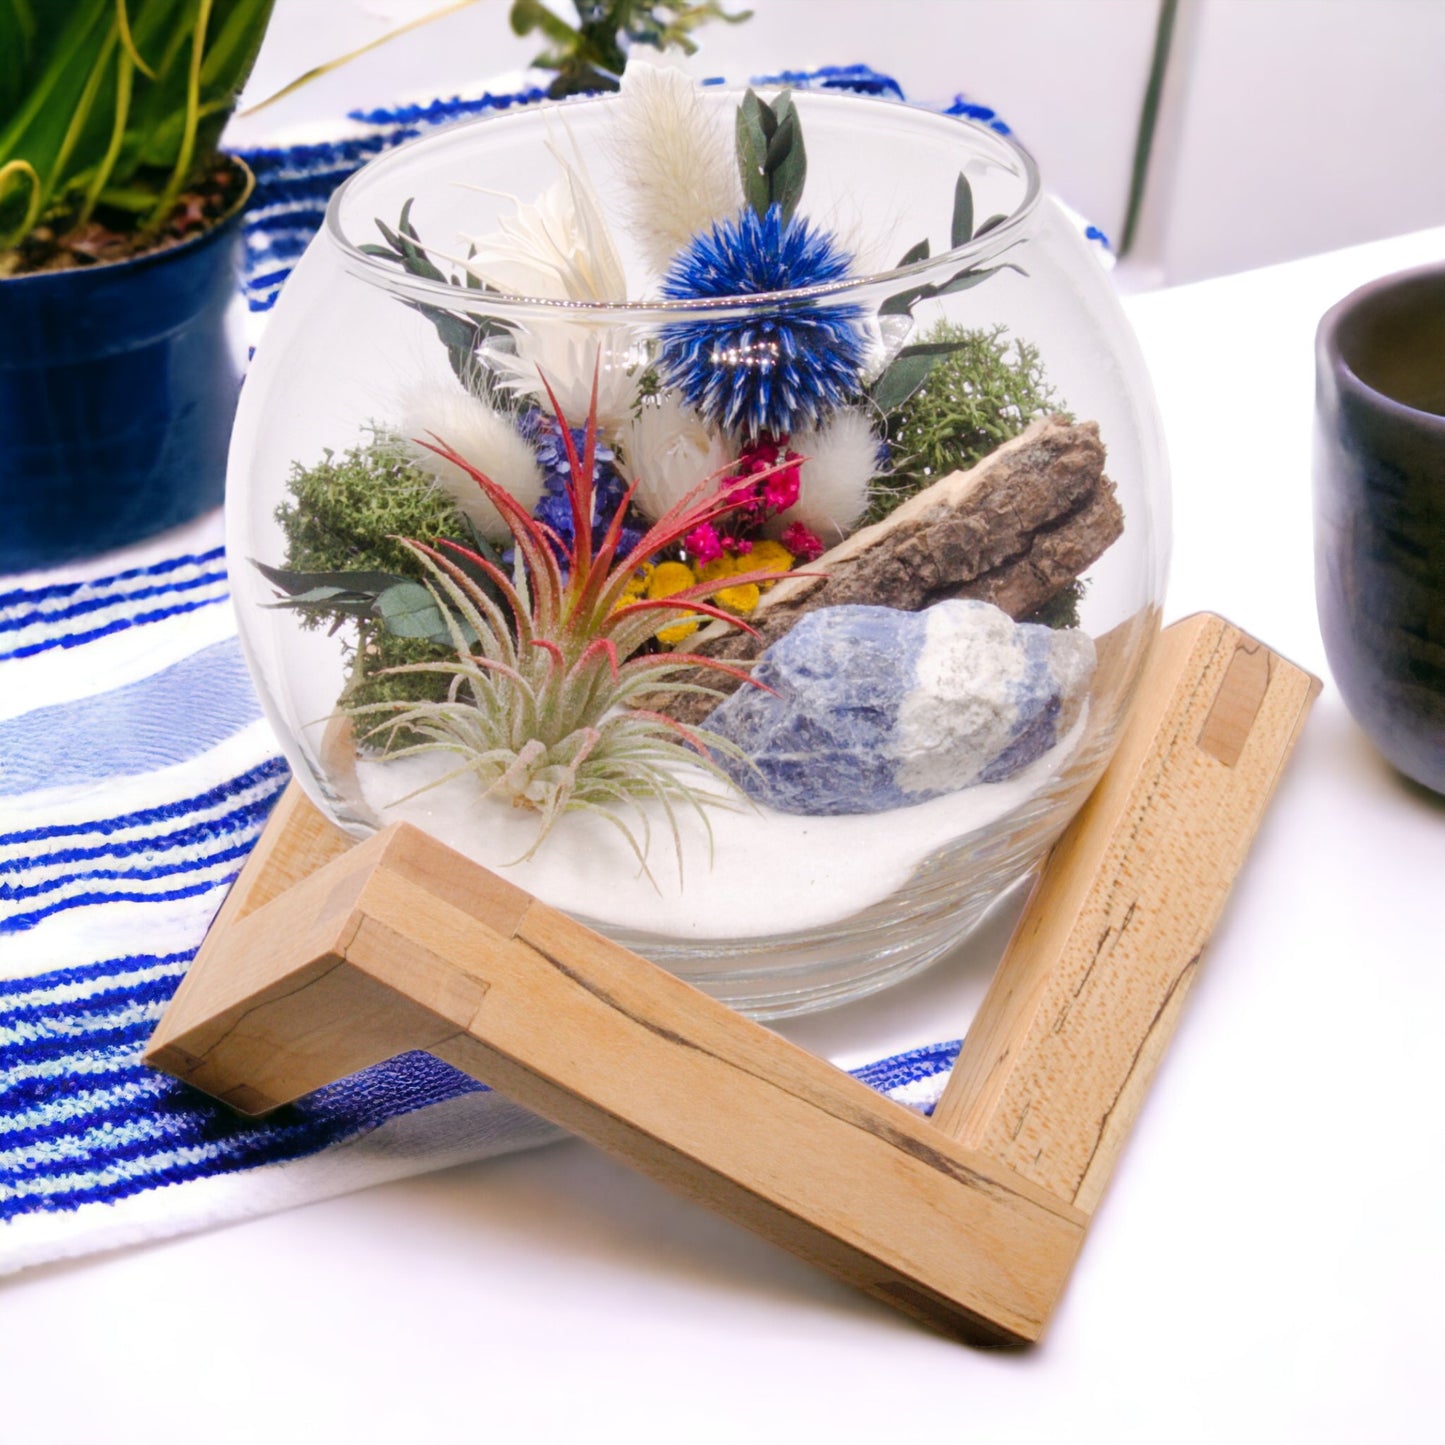
[[266, 949], [270, 909], [241, 920], [150, 1061], [249, 1110], [431, 1049], [941, 1328], [1038, 1337], [1077, 1211], [510, 884], [458, 906], [455, 860], [399, 825], [293, 887]]

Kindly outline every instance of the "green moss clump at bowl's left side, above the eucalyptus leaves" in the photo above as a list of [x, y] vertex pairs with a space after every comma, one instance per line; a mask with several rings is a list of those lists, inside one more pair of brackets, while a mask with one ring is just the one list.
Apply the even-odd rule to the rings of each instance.
[[286, 533], [286, 566], [296, 572], [420, 578], [420, 564], [396, 538], [467, 536], [451, 500], [383, 432], [340, 457], [327, 451], [312, 467], [298, 462], [288, 490], [276, 520]]

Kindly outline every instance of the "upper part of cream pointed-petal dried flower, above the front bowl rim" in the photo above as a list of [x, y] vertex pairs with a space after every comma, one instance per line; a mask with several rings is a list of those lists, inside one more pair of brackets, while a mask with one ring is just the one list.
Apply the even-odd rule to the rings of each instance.
[[488, 236], [464, 237], [473, 254], [461, 264], [512, 296], [546, 301], [626, 301], [627, 277], [597, 192], [581, 158], [548, 142], [562, 176], [533, 205], [516, 202]]

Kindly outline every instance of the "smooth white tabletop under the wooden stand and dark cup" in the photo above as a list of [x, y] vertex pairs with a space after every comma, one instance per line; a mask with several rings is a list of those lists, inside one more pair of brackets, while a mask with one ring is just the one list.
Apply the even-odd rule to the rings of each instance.
[[[1324, 670], [1312, 335], [1445, 230], [1130, 299], [1166, 613]], [[949, 1344], [579, 1143], [23, 1274], [0, 1442], [1438, 1441], [1445, 802], [1327, 685], [1045, 1341]], [[961, 1033], [996, 922], [790, 1032]]]

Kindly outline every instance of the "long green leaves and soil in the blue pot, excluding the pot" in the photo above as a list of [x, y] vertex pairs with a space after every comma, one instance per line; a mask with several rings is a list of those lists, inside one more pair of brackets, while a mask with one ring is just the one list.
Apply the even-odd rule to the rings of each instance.
[[244, 194], [217, 150], [275, 0], [0, 0], [0, 276], [121, 260]]

